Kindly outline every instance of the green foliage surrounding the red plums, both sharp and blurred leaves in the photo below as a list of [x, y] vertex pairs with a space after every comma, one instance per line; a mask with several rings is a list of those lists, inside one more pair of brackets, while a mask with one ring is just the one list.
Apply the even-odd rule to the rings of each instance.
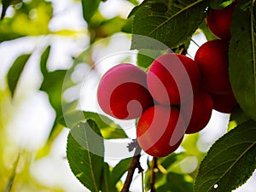
[[[103, 2], [105, 1], [79, 2], [82, 16], [87, 24], [86, 35], [90, 37], [89, 44], [102, 38], [112, 37], [121, 31], [131, 33], [131, 49], [138, 50], [137, 65], [142, 68], [147, 68], [152, 62], [152, 57], [161, 55], [166, 49], [186, 52], [196, 32], [203, 32], [207, 40], [216, 38], [209, 32], [204, 21], [208, 11], [223, 9], [232, 3], [225, 0], [144, 0], [143, 3], [138, 4], [137, 1], [131, 0], [129, 2], [134, 8], [128, 18], [117, 15], [108, 19], [99, 9], [101, 3], [104, 6]], [[0, 43], [8, 43], [10, 40], [23, 37], [57, 36], [61, 33], [51, 32], [49, 29], [49, 22], [54, 17], [53, 5], [49, 1], [2, 1], [2, 4]], [[14, 14], [5, 16], [6, 10], [10, 8], [13, 9]], [[37, 14], [32, 15], [33, 11]], [[256, 168], [255, 15], [256, 4], [253, 0], [240, 0], [233, 14], [229, 73], [232, 90], [240, 108], [236, 108], [231, 113], [228, 131], [212, 145], [204, 159], [205, 154], [196, 147], [199, 135], [187, 137], [183, 142], [182, 153], [160, 158], [156, 165], [153, 165], [153, 160], [148, 157], [145, 178], [143, 178], [145, 189], [152, 189], [150, 186], [153, 183], [156, 191], [231, 191], [246, 183], [252, 175]], [[67, 33], [67, 36], [73, 33], [79, 34], [72, 32]], [[151, 44], [146, 40], [147, 38], [141, 38], [142, 36], [157, 39], [160, 44]], [[82, 56], [73, 57], [71, 68], [54, 71], [49, 70], [49, 56], [54, 54], [52, 44], [47, 44], [44, 50], [41, 50], [38, 67], [42, 73], [42, 82], [38, 90], [47, 94], [49, 104], [55, 111], [55, 120], [44, 147], [37, 153], [38, 158], [47, 155], [55, 138], [64, 127], [68, 127], [70, 132], [67, 137], [67, 161], [74, 176], [91, 191], [119, 191], [123, 187], [123, 176], [130, 169], [132, 158], [125, 157], [119, 159], [115, 166], [111, 165], [108, 163], [108, 157], [105, 156], [105, 144], [108, 141], [116, 142], [127, 138], [131, 142], [131, 138], [122, 129], [122, 125], [104, 114], [79, 110], [79, 98], [75, 98], [72, 102], [63, 99], [66, 90], [81, 84], [81, 81], [76, 82], [72, 79], [72, 74], [68, 74], [73, 73], [79, 63], [87, 64], [93, 72], [96, 72], [93, 57], [95, 49], [97, 48], [89, 47], [84, 50], [85, 54]], [[11, 106], [7, 103], [14, 100], [15, 90], [20, 85], [26, 63], [33, 54], [34, 52], [18, 55], [9, 67], [6, 75], [9, 90], [0, 90], [0, 107], [3, 103]], [[7, 96], [8, 91], [10, 96]], [[2, 108], [0, 114], [0, 131], [3, 131]], [[3, 136], [5, 136], [4, 132]], [[3, 163], [2, 152], [5, 140], [2, 137], [0, 177], [9, 172], [9, 179], [4, 178], [0, 181], [0, 188], [7, 189], [6, 191], [18, 191], [15, 177], [18, 177], [16, 169], [22, 159], [22, 153], [16, 158], [13, 169], [9, 171]], [[127, 148], [125, 150], [128, 151]], [[198, 163], [191, 172], [183, 172], [183, 160], [188, 157], [195, 157], [201, 164]], [[26, 161], [24, 164], [31, 163], [31, 160], [24, 161]], [[24, 167], [23, 171], [28, 170], [27, 165]], [[9, 185], [10, 183], [14, 183], [14, 186]]]

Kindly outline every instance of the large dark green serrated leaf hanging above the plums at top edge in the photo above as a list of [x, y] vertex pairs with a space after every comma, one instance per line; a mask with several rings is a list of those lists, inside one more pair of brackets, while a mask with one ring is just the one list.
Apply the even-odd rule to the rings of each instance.
[[[169, 48], [183, 44], [207, 15], [208, 1], [144, 1], [135, 8], [132, 32], [159, 40]], [[132, 38], [131, 48], [149, 48], [140, 37]]]

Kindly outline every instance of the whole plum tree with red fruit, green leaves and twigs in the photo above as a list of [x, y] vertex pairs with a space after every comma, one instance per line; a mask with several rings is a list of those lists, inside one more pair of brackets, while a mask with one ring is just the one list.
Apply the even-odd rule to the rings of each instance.
[[[255, 1], [124, 0], [129, 13], [108, 17], [102, 10], [109, 2], [76, 1], [85, 25], [73, 32], [48, 27], [54, 17], [50, 1], [2, 0], [1, 43], [86, 34], [86, 47], [70, 56], [68, 67], [50, 66], [50, 56], [58, 59], [54, 44], [34, 50], [40, 55], [37, 91], [55, 112], [35, 160], [49, 154], [67, 128], [64, 159], [84, 189], [231, 192], [241, 187], [256, 169]], [[18, 29], [21, 24], [29, 30]], [[19, 55], [9, 67], [11, 100], [32, 55]], [[227, 123], [219, 125], [214, 115], [225, 115]], [[221, 129], [224, 133], [207, 143], [204, 133]], [[14, 179], [10, 174], [6, 186]]]

